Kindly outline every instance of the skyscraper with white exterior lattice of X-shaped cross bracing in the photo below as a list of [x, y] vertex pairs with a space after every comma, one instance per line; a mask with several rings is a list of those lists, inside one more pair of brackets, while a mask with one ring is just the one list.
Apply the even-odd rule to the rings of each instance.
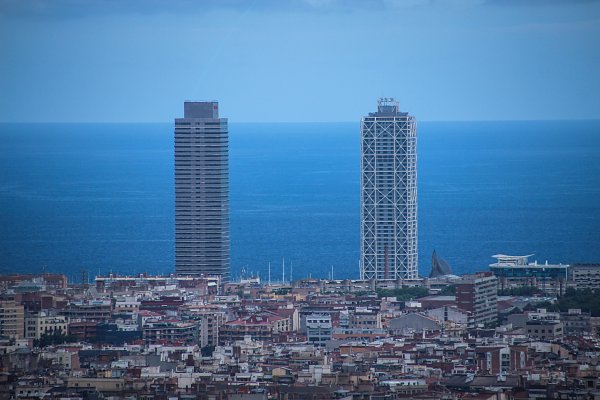
[[417, 278], [415, 118], [383, 98], [362, 118], [360, 133], [361, 278]]

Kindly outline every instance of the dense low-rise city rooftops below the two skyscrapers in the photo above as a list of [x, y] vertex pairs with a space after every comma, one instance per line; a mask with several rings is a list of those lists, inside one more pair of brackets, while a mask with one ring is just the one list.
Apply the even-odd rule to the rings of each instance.
[[0, 397], [599, 396], [600, 265], [497, 256], [458, 277], [440, 264], [428, 278], [270, 284], [3, 276]]

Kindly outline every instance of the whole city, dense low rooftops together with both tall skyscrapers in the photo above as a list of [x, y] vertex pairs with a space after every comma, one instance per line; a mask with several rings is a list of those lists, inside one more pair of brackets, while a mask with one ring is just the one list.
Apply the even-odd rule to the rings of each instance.
[[185, 102], [174, 273], [1, 276], [0, 399], [600, 398], [600, 264], [419, 277], [415, 118], [382, 98], [360, 133], [360, 279], [233, 281], [228, 121]]

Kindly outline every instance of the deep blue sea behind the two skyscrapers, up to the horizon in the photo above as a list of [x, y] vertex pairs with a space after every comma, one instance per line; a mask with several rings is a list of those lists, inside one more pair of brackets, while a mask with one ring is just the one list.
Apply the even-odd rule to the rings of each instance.
[[[357, 123], [230, 125], [231, 260], [358, 277]], [[422, 122], [419, 262], [600, 262], [600, 121]], [[171, 124], [0, 124], [0, 273], [174, 269]]]

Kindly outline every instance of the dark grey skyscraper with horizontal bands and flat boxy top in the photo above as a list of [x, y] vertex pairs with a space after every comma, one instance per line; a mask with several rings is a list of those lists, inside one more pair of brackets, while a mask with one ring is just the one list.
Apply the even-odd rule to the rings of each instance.
[[216, 101], [175, 119], [175, 270], [229, 280], [229, 139]]

